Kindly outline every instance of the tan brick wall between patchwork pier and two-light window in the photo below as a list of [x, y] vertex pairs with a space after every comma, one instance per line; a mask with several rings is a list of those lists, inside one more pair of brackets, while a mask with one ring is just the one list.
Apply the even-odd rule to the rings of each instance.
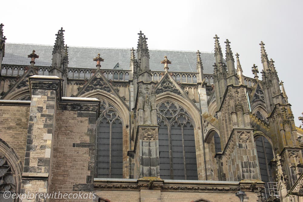
[[70, 194], [93, 190], [96, 120], [92, 116], [95, 112], [57, 110], [51, 192]]

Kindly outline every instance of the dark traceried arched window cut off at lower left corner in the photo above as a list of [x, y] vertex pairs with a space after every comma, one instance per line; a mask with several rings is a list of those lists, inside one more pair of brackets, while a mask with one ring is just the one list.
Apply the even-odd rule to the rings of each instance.
[[12, 198], [5, 199], [4, 192], [16, 192], [16, 182], [13, 177], [11, 166], [6, 161], [5, 157], [0, 154], [0, 201], [10, 202]]

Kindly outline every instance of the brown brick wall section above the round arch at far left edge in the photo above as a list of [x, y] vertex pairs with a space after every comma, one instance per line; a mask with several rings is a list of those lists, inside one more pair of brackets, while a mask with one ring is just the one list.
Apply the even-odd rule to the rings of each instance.
[[0, 138], [11, 146], [22, 164], [25, 157], [29, 106], [0, 106]]

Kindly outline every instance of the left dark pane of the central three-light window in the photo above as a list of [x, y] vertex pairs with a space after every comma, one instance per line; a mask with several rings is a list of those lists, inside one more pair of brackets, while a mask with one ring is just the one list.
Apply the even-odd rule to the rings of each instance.
[[160, 152], [160, 177], [161, 179], [171, 179], [169, 160], [168, 128], [164, 122], [159, 123], [159, 152]]

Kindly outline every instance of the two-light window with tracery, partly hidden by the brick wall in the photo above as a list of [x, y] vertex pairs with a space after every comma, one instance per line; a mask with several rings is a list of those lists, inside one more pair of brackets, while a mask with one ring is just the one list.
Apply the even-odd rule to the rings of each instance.
[[97, 138], [97, 177], [123, 177], [123, 127], [116, 110], [104, 101], [100, 106]]

